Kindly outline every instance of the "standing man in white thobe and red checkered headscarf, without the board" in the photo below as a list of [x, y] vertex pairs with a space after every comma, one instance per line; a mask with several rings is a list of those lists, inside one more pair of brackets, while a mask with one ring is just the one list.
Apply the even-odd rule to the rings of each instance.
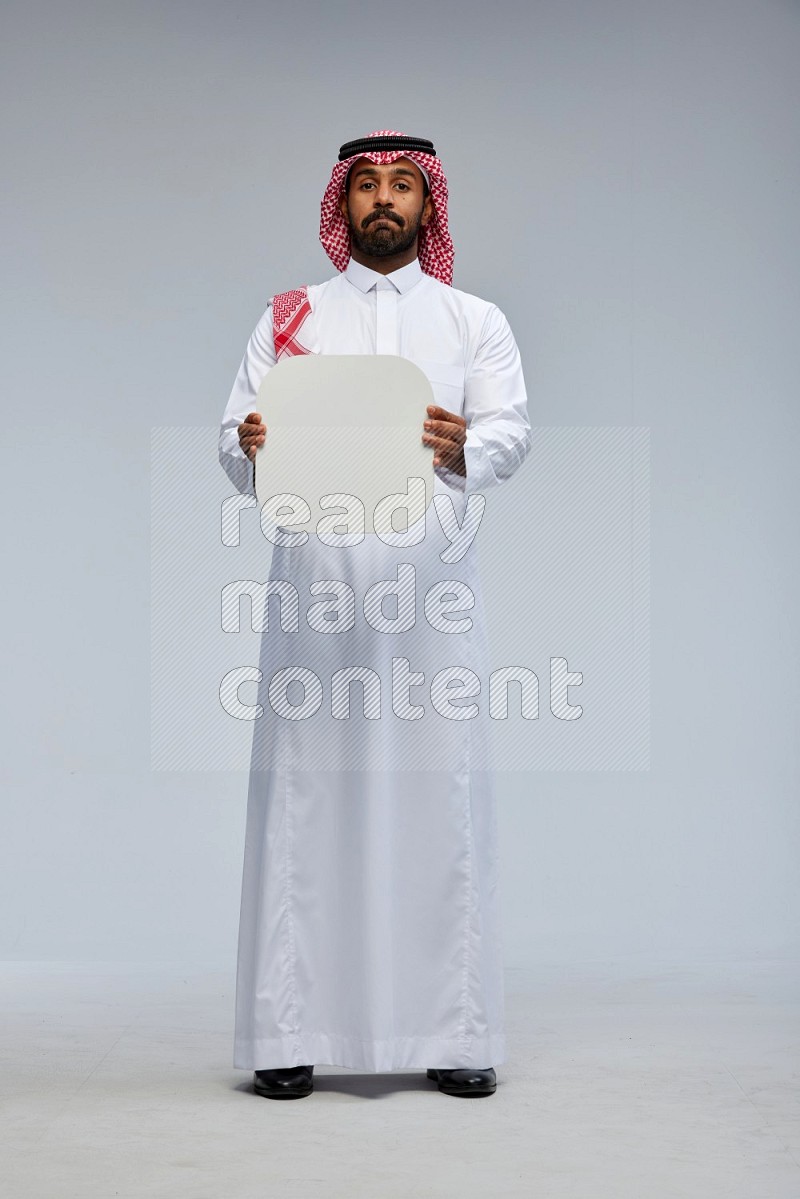
[[[447, 498], [463, 523], [475, 493], [522, 464], [530, 426], [505, 317], [451, 285], [447, 185], [433, 144], [384, 129], [342, 146], [320, 240], [339, 273], [270, 301], [225, 409], [222, 465], [254, 494], [251, 464], [269, 435], [254, 397], [278, 357], [399, 355], [431, 381], [435, 404], [420, 435], [433, 453], [434, 498]], [[403, 549], [371, 534], [344, 548], [309, 536], [299, 549], [273, 550], [270, 579], [289, 580], [300, 596], [320, 594], [323, 580], [323, 592], [345, 583], [360, 602], [379, 580], [397, 579], [399, 595], [413, 579], [426, 615], [444, 589], [461, 620], [433, 627], [417, 610], [399, 632], [353, 616], [336, 637], [319, 622], [313, 631], [272, 622], [264, 633], [234, 1066], [254, 1071], [255, 1091], [270, 1098], [311, 1093], [314, 1064], [426, 1068], [449, 1095], [495, 1090], [505, 1040], [487, 705], [461, 712], [434, 694], [457, 647], [452, 677], [471, 679], [465, 694], [476, 697], [488, 653], [475, 547], [446, 560], [449, 540], [433, 524]], [[421, 608], [413, 596], [408, 603]], [[329, 680], [353, 663], [380, 677], [391, 713], [318, 713], [319, 724], [276, 715], [269, 688], [279, 671], [311, 665]]]

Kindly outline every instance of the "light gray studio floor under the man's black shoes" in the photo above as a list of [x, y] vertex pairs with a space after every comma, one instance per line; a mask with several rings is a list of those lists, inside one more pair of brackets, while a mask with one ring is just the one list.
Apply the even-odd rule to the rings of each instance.
[[320, 1068], [249, 1091], [233, 978], [5, 963], [2, 1193], [13, 1199], [800, 1199], [798, 969], [510, 972], [497, 1095]]

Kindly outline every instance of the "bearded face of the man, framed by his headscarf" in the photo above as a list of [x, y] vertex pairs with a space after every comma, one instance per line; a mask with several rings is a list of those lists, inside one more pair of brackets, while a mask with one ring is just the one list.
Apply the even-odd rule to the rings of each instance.
[[350, 227], [353, 245], [369, 258], [386, 258], [411, 248], [420, 227], [431, 219], [433, 205], [425, 195], [422, 171], [410, 158], [386, 165], [359, 158], [350, 169], [339, 210]]

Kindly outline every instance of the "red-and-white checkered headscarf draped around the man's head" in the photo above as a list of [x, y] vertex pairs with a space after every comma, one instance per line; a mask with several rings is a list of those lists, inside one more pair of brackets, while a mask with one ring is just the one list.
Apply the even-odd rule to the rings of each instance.
[[[377, 129], [374, 133], [368, 133], [367, 137], [405, 137], [405, 134], [398, 133], [397, 129]], [[410, 158], [413, 163], [426, 171], [431, 183], [433, 213], [427, 225], [420, 229], [420, 266], [426, 275], [432, 275], [435, 279], [451, 287], [455, 251], [447, 229], [447, 180], [438, 157], [416, 150], [373, 150], [336, 163], [325, 188], [319, 222], [319, 240], [336, 270], [343, 271], [350, 261], [350, 230], [339, 212], [338, 200], [344, 188], [347, 173], [359, 158], [369, 158], [378, 165], [392, 163], [397, 158]]]

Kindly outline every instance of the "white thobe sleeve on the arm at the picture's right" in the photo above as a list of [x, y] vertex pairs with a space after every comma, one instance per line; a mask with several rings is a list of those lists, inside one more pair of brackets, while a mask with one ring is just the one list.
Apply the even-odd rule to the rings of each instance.
[[483, 320], [477, 350], [464, 380], [467, 477], [437, 468], [459, 492], [481, 492], [511, 478], [531, 445], [528, 397], [519, 350], [495, 305]]

